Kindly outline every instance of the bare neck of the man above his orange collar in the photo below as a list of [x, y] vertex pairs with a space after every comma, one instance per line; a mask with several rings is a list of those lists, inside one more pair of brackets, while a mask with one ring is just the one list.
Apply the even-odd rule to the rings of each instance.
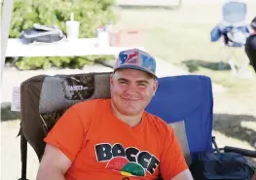
[[142, 116], [143, 116], [143, 112], [141, 112], [138, 115], [134, 115], [134, 116], [127, 116], [127, 115], [123, 115], [122, 113], [120, 113], [115, 106], [113, 105], [113, 103], [111, 103], [111, 107], [112, 107], [112, 111], [114, 113], [114, 115], [122, 122], [125, 122], [126, 124], [128, 124], [128, 126], [137, 126], [141, 120], [142, 120]]

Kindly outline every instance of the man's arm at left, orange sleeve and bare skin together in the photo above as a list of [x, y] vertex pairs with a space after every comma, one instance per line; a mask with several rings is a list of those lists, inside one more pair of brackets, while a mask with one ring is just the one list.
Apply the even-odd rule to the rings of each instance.
[[[47, 145], [40, 162], [37, 180], [64, 180], [64, 174], [81, 150], [91, 123], [91, 114], [88, 113], [91, 109], [88, 106], [87, 104], [71, 106], [49, 131], [44, 139]], [[83, 117], [81, 112], [85, 114]]]

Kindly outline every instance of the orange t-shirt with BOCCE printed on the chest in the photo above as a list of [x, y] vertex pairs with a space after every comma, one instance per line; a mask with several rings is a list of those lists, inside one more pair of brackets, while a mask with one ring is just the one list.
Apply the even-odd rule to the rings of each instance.
[[113, 114], [110, 99], [80, 102], [58, 120], [45, 142], [72, 162], [66, 180], [171, 179], [188, 168], [172, 128], [143, 113], [130, 127]]

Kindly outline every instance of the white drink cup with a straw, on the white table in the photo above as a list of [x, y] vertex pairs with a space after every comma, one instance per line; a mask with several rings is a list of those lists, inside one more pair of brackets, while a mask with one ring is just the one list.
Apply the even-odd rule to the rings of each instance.
[[68, 40], [76, 40], [79, 37], [80, 22], [76, 20], [66, 21], [66, 33]]

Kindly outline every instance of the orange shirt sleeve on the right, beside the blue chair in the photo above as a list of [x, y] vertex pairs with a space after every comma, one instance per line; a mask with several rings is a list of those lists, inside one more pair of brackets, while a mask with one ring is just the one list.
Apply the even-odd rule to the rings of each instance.
[[164, 133], [164, 149], [160, 161], [160, 173], [165, 180], [170, 180], [186, 170], [188, 165], [174, 130], [169, 126], [165, 126]]

